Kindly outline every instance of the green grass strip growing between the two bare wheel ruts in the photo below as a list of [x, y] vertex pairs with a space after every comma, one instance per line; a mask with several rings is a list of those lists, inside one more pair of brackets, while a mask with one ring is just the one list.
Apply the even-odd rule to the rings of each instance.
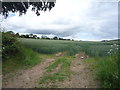
[[39, 83], [47, 84], [45, 85], [45, 87], [51, 87], [51, 85], [57, 87], [55, 83], [64, 81], [66, 78], [70, 77], [70, 65], [72, 60], [73, 57], [70, 56], [63, 56], [56, 59], [56, 61], [53, 64], [47, 67], [47, 72], [52, 72], [52, 70], [55, 69], [59, 64], [62, 64], [60, 69], [53, 74], [48, 73], [47, 75], [43, 76], [40, 79]]

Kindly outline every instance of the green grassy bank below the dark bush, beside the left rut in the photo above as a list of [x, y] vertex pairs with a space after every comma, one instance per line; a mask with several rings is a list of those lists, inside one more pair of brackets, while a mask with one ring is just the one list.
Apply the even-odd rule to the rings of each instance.
[[3, 74], [18, 69], [30, 68], [42, 61], [40, 55], [29, 48], [24, 47], [23, 55], [13, 56], [2, 62]]

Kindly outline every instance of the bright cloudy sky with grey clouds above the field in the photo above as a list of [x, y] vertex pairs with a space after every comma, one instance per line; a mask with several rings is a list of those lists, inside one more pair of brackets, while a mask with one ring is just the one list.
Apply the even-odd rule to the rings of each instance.
[[2, 27], [19, 33], [34, 33], [76, 40], [118, 38], [118, 3], [94, 0], [57, 0], [49, 12], [36, 16], [31, 8], [25, 15], [10, 14]]

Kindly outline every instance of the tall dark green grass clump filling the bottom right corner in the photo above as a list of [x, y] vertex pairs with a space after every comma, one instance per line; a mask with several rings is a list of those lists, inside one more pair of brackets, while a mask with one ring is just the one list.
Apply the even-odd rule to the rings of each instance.
[[97, 62], [97, 77], [101, 81], [103, 88], [118, 88], [119, 74], [118, 74], [118, 55], [112, 55], [100, 59]]

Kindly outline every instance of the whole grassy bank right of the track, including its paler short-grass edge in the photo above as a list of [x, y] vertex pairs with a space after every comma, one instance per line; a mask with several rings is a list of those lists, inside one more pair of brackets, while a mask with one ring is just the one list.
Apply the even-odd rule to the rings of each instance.
[[118, 88], [118, 55], [107, 56], [104, 58], [89, 58], [84, 61], [89, 64], [92, 73], [100, 81], [102, 88]]

